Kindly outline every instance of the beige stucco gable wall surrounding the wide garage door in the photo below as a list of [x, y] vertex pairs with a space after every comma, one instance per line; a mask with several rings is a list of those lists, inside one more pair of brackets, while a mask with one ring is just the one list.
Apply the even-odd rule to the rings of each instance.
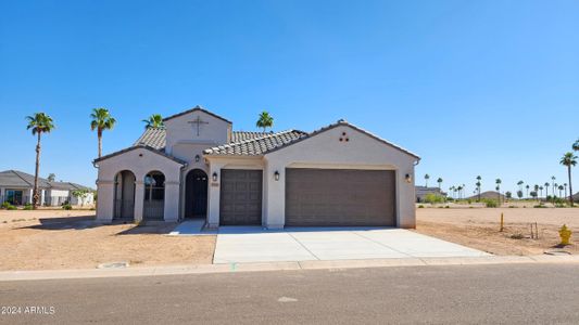
[[[345, 132], [345, 135], [342, 135]], [[340, 142], [340, 138], [349, 141]], [[397, 176], [397, 223], [415, 227], [414, 180], [417, 158], [387, 145], [348, 126], [339, 126], [264, 157], [264, 223], [267, 227], [285, 225], [286, 168], [337, 168], [394, 170]], [[280, 173], [275, 181], [274, 173]]]

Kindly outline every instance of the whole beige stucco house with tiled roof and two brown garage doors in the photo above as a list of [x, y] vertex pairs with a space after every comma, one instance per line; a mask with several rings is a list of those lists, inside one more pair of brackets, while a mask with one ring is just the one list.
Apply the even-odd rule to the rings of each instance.
[[419, 157], [344, 120], [234, 131], [199, 106], [96, 159], [97, 218], [219, 225], [414, 227]]

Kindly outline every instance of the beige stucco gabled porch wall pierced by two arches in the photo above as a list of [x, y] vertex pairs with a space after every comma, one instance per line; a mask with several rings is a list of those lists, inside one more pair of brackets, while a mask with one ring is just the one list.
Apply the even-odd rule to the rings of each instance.
[[144, 198], [143, 180], [148, 172], [160, 171], [165, 176], [165, 221], [179, 219], [179, 188], [181, 165], [144, 148], [136, 148], [98, 162], [98, 208], [97, 219], [110, 222], [114, 210], [114, 178], [123, 170], [129, 170], [136, 178], [135, 220], [142, 220]]

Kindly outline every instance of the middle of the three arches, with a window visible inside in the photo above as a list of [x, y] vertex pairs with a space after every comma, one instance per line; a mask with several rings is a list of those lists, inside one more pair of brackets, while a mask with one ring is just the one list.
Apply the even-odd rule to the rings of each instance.
[[142, 220], [163, 220], [165, 214], [165, 176], [151, 171], [144, 177]]

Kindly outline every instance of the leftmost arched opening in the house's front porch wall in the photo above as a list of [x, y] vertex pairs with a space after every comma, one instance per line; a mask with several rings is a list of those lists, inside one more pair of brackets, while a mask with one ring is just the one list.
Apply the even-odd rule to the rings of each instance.
[[114, 178], [114, 213], [113, 219], [135, 219], [135, 174], [123, 170]]

